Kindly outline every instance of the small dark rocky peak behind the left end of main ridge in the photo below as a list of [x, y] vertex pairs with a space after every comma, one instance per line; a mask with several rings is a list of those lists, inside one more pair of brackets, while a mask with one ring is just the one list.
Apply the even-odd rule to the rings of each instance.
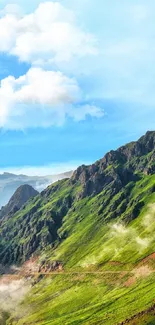
[[30, 185], [20, 186], [13, 194], [8, 204], [0, 210], [0, 218], [9, 217], [15, 214], [30, 198], [38, 194], [39, 192]]

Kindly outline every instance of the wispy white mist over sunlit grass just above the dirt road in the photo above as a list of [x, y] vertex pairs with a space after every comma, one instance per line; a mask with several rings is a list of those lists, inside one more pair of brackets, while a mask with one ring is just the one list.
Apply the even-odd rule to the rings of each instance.
[[119, 260], [121, 255], [130, 248], [141, 255], [155, 241], [155, 235], [152, 235], [153, 229], [155, 230], [155, 204], [149, 204], [138, 227], [136, 225], [126, 226], [123, 222], [111, 224], [106, 240], [100, 246], [100, 252], [96, 255], [89, 255], [80, 265], [89, 267], [103, 260]]

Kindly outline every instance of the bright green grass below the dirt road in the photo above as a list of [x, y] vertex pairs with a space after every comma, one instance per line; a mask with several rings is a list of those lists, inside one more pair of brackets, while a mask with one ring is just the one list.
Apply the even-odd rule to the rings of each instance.
[[155, 297], [153, 275], [126, 287], [129, 276], [79, 274], [44, 279], [25, 300], [26, 316], [8, 324], [117, 324], [150, 307]]

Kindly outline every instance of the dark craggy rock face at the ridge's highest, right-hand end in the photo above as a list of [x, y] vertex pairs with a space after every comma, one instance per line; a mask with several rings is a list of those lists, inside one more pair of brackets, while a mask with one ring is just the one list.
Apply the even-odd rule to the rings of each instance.
[[79, 198], [95, 196], [104, 188], [113, 194], [126, 184], [136, 181], [138, 173], [155, 173], [155, 132], [147, 132], [137, 142], [129, 143], [116, 151], [110, 151], [91, 166], [80, 166], [73, 174], [71, 183], [80, 182]]

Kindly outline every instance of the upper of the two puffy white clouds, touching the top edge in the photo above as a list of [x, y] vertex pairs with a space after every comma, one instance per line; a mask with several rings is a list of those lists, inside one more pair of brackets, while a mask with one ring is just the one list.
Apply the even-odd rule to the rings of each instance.
[[25, 16], [6, 7], [0, 19], [0, 50], [32, 64], [59, 63], [96, 54], [95, 38], [78, 27], [74, 14], [58, 2], [41, 3]]

